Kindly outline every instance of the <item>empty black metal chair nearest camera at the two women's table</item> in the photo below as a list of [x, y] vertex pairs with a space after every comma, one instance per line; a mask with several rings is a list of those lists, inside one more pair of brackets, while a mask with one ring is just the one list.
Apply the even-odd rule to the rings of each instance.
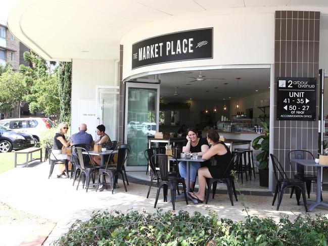
[[160, 190], [163, 186], [164, 202], [167, 202], [167, 191], [168, 191], [168, 187], [169, 187], [170, 191], [171, 191], [171, 202], [172, 202], [173, 210], [175, 210], [175, 191], [180, 183], [183, 186], [184, 198], [185, 198], [185, 202], [187, 205], [188, 205], [188, 200], [187, 200], [187, 196], [186, 196], [186, 187], [185, 187], [185, 183], [184, 183], [184, 178], [177, 177], [177, 176], [173, 177], [173, 176], [169, 175], [168, 158], [172, 158], [172, 159], [175, 159], [175, 161], [177, 161], [174, 156], [165, 155], [165, 154], [153, 155], [151, 158], [150, 163], [151, 164], [155, 163], [155, 160], [156, 160], [158, 163], [158, 166], [159, 166], [159, 171], [160, 171], [160, 175], [158, 175], [158, 173], [155, 170], [155, 174], [157, 175], [158, 184], [157, 184], [157, 193], [156, 193], [154, 208], [156, 208]]

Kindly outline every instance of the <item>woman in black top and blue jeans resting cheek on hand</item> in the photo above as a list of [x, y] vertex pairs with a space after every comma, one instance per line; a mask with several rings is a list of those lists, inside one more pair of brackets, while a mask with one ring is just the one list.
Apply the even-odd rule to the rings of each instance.
[[[205, 152], [208, 151], [209, 145], [205, 138], [200, 138], [197, 136], [197, 130], [195, 128], [188, 128], [187, 130], [187, 136], [186, 139], [188, 142], [184, 144], [182, 147], [182, 152], [191, 152], [191, 153], [197, 153], [197, 156], [202, 157]], [[198, 169], [201, 166], [207, 166], [209, 164], [209, 161], [207, 162], [192, 162], [190, 165], [190, 187], [194, 187], [194, 180], [196, 178], [196, 174]], [[179, 163], [179, 173], [180, 176], [186, 179], [187, 176], [187, 169], [186, 169], [186, 162], [180, 162]]]

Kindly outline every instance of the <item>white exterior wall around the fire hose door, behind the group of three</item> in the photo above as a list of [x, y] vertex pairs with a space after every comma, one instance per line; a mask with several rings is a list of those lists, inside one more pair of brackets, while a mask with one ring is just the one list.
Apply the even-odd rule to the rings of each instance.
[[[73, 60], [72, 63], [71, 124], [73, 134], [78, 131], [78, 125], [80, 123], [80, 99], [96, 99], [96, 87], [99, 85], [118, 86], [118, 71], [115, 71], [115, 61]], [[95, 114], [97, 115], [97, 103], [95, 106]], [[95, 121], [97, 121], [97, 117], [95, 117]], [[88, 129], [88, 132], [92, 133], [94, 130], [95, 129]]]

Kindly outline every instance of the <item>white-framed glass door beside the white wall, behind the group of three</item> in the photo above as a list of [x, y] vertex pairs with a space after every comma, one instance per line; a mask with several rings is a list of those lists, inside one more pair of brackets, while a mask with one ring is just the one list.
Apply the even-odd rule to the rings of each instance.
[[112, 141], [118, 140], [119, 87], [98, 87], [97, 98], [99, 125], [106, 127], [105, 133]]

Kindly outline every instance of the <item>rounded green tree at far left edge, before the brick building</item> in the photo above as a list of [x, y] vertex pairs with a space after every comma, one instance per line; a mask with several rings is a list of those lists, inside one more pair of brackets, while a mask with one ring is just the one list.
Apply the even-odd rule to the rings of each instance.
[[0, 112], [5, 113], [5, 118], [16, 108], [26, 91], [23, 75], [14, 73], [9, 69], [0, 76]]

